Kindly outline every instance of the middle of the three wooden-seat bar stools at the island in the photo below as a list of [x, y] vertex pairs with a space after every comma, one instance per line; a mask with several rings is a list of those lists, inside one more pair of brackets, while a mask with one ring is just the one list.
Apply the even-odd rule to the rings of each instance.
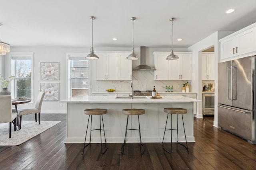
[[[123, 114], [127, 115], [127, 121], [126, 121], [124, 143], [121, 147], [121, 153], [122, 154], [124, 153], [124, 144], [126, 143], [127, 131], [136, 130], [136, 131], [139, 131], [139, 133], [140, 133], [140, 117], [139, 117], [139, 115], [145, 114], [145, 109], [123, 109]], [[139, 129], [127, 129], [129, 115], [138, 115]], [[143, 147], [143, 150], [141, 150], [141, 147]], [[144, 148], [144, 146], [141, 142], [141, 135], [140, 135], [140, 153], [143, 154], [144, 150], [145, 150], [145, 148]]]

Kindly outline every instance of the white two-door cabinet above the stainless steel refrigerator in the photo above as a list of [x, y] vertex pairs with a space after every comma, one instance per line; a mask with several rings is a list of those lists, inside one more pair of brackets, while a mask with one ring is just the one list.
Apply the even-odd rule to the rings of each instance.
[[237, 31], [220, 39], [220, 59], [228, 59], [256, 51], [256, 27]]

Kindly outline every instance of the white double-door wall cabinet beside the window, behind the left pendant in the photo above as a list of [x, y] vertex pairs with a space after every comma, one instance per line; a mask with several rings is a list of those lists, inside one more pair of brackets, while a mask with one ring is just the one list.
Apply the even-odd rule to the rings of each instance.
[[118, 54], [97, 54], [96, 80], [118, 80]]

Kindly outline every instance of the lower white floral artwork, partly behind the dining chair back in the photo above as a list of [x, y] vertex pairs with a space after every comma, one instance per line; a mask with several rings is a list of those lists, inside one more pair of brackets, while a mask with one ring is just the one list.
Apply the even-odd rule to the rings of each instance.
[[45, 92], [44, 101], [59, 100], [59, 83], [40, 83], [41, 92]]

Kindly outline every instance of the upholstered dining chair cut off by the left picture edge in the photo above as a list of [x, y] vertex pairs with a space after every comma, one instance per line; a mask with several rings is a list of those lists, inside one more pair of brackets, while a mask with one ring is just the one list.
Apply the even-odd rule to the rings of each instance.
[[[11, 138], [12, 121], [14, 121], [14, 125], [16, 125], [17, 113], [12, 112], [12, 98], [10, 95], [0, 96], [0, 117], [0, 123], [10, 123], [9, 138]], [[14, 129], [16, 129], [15, 126]]]

